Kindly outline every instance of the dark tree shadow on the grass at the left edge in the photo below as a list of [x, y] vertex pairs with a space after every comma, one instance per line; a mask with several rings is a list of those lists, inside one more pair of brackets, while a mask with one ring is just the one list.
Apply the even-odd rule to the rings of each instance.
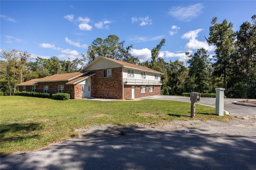
[[39, 123], [11, 123], [11, 124], [1, 124], [1, 143], [2, 142], [18, 142], [20, 140], [25, 140], [29, 138], [36, 138], [38, 134], [30, 134], [35, 130], [42, 129]]

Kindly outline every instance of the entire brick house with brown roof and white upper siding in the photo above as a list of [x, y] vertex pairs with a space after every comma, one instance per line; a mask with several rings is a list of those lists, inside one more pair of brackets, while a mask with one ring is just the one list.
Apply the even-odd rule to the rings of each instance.
[[160, 95], [162, 74], [148, 67], [100, 56], [81, 72], [32, 79], [18, 86], [19, 91], [69, 93], [70, 99], [135, 99]]

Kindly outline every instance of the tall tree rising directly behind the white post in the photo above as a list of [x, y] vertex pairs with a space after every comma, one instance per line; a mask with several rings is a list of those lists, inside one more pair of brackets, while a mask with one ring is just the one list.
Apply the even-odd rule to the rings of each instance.
[[217, 23], [217, 17], [212, 18], [210, 26], [210, 37], [207, 40], [209, 44], [216, 45], [214, 55], [214, 75], [223, 76], [223, 86], [227, 89], [227, 69], [230, 65], [230, 56], [234, 50], [234, 31], [233, 24], [228, 24], [224, 20], [221, 24]]

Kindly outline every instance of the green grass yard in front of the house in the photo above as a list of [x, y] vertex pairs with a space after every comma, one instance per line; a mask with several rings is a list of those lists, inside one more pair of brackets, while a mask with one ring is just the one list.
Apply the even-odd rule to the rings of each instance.
[[[193, 120], [190, 103], [164, 100], [56, 101], [35, 97], [0, 97], [0, 154], [35, 150], [79, 135], [93, 125], [144, 125]], [[215, 108], [196, 105], [195, 120], [225, 121]]]

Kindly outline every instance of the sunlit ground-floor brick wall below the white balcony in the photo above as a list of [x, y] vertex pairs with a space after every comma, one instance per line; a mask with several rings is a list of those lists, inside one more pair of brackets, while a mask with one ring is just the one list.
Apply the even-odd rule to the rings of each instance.
[[161, 95], [161, 85], [153, 85], [153, 92], [149, 92], [152, 85], [143, 85], [146, 86], [146, 93], [141, 93], [142, 85], [124, 85], [124, 99], [132, 99], [132, 86], [135, 86], [135, 98]]

